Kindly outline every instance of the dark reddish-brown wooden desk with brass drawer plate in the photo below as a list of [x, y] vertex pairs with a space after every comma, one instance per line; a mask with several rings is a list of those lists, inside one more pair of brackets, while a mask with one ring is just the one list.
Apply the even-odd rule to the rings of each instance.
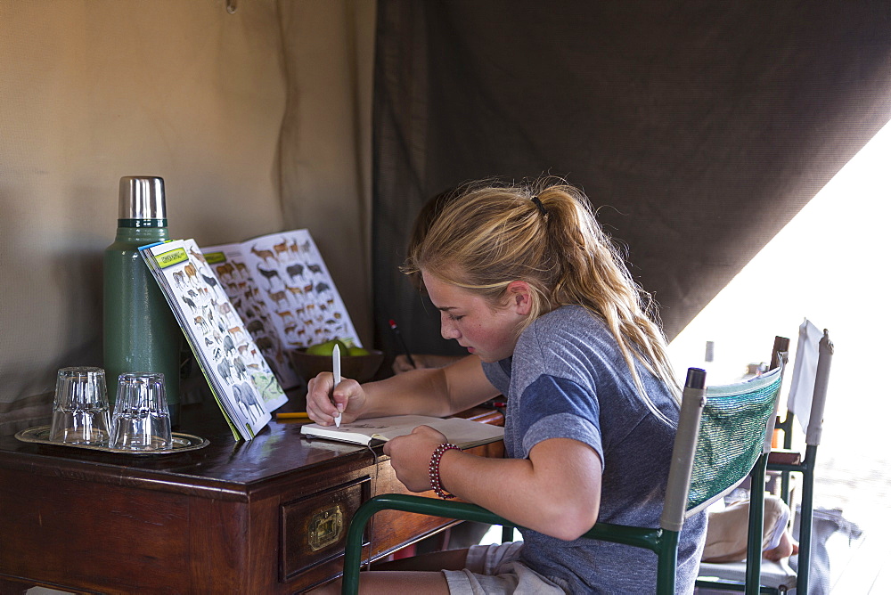
[[[254, 440], [236, 443], [219, 411], [208, 409], [183, 413], [182, 431], [210, 440], [192, 452], [125, 455], [0, 438], [0, 592], [33, 584], [107, 593], [300, 592], [340, 574], [359, 504], [405, 493], [380, 448], [375, 456], [309, 441], [293, 421], [272, 421]], [[501, 422], [487, 410], [469, 416]], [[501, 456], [502, 449], [474, 452]], [[381, 513], [371, 528], [375, 557], [446, 526]]]

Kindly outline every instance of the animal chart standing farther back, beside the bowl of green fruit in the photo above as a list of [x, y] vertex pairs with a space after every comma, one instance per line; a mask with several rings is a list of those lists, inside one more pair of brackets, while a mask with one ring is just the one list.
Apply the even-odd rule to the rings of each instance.
[[331, 338], [352, 338], [362, 346], [308, 230], [202, 251], [282, 387], [303, 381], [292, 367], [289, 349]]

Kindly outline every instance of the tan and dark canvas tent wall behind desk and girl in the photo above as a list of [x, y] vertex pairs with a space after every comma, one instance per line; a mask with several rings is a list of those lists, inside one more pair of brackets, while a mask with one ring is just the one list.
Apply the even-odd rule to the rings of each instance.
[[421, 204], [565, 175], [671, 335], [891, 114], [886, 2], [226, 4], [0, 2], [0, 431], [101, 362], [121, 175], [175, 237], [308, 227], [389, 355], [393, 317], [444, 348], [396, 272]]

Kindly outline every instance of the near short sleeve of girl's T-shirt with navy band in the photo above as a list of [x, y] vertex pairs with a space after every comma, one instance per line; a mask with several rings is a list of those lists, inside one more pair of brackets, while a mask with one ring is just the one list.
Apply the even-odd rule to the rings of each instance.
[[594, 395], [572, 380], [542, 374], [526, 387], [520, 403], [524, 458], [544, 440], [570, 438], [591, 446], [603, 464], [600, 406]]

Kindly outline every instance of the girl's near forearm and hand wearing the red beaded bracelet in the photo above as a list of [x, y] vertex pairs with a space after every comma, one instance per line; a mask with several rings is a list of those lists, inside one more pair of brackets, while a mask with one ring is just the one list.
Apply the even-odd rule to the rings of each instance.
[[[396, 476], [414, 492], [430, 489], [429, 457], [443, 442], [432, 428], [384, 446]], [[573, 540], [597, 522], [601, 460], [587, 444], [552, 438], [535, 444], [528, 459], [489, 459], [446, 451], [439, 463], [444, 489], [518, 525]]]

